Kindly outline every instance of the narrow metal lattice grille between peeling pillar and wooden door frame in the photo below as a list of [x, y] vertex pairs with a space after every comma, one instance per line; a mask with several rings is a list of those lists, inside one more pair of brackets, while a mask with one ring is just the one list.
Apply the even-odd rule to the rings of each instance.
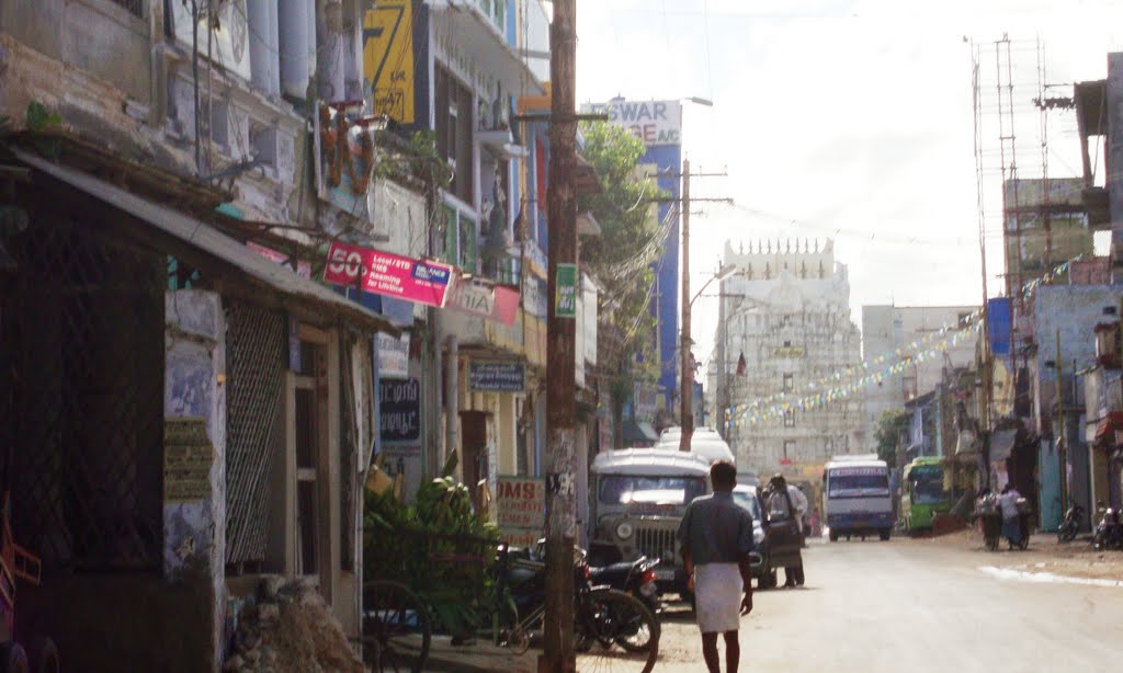
[[227, 563], [264, 561], [285, 316], [241, 302], [227, 306]]

